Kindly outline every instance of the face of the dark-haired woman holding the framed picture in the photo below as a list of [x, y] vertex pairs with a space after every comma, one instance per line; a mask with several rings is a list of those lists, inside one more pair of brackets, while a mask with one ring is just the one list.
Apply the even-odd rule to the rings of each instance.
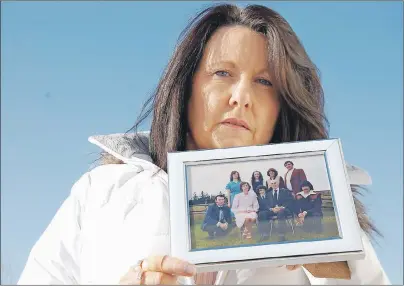
[[188, 148], [267, 144], [279, 108], [266, 38], [242, 26], [218, 29], [193, 78]]

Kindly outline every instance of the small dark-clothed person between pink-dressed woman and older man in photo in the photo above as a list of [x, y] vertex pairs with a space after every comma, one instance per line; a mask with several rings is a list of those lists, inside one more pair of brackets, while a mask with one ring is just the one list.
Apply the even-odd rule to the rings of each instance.
[[258, 186], [258, 232], [261, 235], [261, 240], [266, 240], [269, 237], [269, 220], [275, 215], [270, 209], [272, 206], [271, 194], [268, 194], [268, 189], [265, 186]]

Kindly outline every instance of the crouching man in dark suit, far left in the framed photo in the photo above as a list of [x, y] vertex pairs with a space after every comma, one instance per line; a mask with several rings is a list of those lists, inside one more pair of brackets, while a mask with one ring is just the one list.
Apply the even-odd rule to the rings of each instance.
[[224, 195], [217, 195], [215, 203], [208, 207], [202, 230], [208, 232], [209, 239], [223, 237], [231, 231], [230, 208], [225, 204]]

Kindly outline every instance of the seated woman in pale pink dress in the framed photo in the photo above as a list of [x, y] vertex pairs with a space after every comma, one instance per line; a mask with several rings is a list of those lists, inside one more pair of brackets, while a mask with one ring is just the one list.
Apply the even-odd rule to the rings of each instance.
[[251, 186], [247, 182], [242, 182], [242, 192], [237, 194], [233, 201], [232, 211], [236, 217], [236, 225], [243, 229], [243, 237], [252, 238], [252, 226], [257, 219], [259, 208], [257, 196], [250, 194]]

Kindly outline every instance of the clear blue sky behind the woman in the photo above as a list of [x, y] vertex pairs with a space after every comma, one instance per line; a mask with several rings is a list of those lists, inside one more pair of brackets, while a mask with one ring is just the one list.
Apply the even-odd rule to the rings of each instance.
[[[131, 127], [180, 31], [207, 4], [1, 3], [3, 279], [18, 279], [31, 247], [96, 159], [87, 137]], [[364, 201], [384, 234], [376, 250], [401, 284], [403, 4], [265, 4], [286, 17], [321, 70], [331, 136], [373, 177]]]

